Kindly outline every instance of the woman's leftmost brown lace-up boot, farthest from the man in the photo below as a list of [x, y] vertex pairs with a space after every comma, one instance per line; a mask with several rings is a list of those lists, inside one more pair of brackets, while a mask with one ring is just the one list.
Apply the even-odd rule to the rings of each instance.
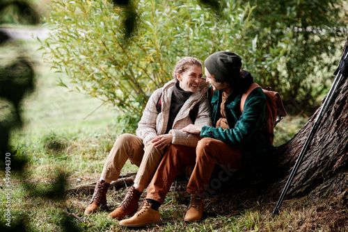
[[97, 182], [93, 192], [93, 197], [90, 200], [90, 204], [85, 210], [85, 215], [90, 215], [91, 213], [97, 211], [99, 208], [106, 206], [106, 192], [109, 186], [110, 183], [106, 183], [105, 181]]

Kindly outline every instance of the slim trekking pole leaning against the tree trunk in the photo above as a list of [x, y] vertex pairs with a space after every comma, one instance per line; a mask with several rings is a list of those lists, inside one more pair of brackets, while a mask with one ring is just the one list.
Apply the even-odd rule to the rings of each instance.
[[[347, 58], [347, 55], [348, 55], [348, 49], [346, 48], [345, 49], [345, 53], [343, 53], [343, 56], [345, 56], [345, 57], [343, 58], [343, 56], [342, 56], [341, 62], [343, 62], [343, 60], [345, 58]], [[303, 160], [303, 157], [306, 154], [308, 146], [309, 146], [310, 142], [312, 141], [313, 136], [315, 135], [315, 132], [317, 132], [317, 129], [319, 127], [319, 122], [322, 120], [322, 117], [324, 116], [326, 108], [330, 105], [330, 102], [332, 100], [333, 94], [337, 90], [338, 84], [342, 81], [342, 78], [343, 78], [343, 75], [341, 74], [341, 72], [339, 70], [338, 74], [336, 74], [336, 76], [335, 76], [335, 80], [333, 81], [333, 84], [331, 85], [331, 88], [329, 90], [329, 94], [326, 96], [326, 98], [324, 100], [324, 103], [322, 105], [322, 108], [320, 109], [317, 117], [315, 118], [315, 121], [314, 121], [314, 124], [313, 124], [313, 128], [310, 131], [310, 133], [308, 135], [308, 138], [307, 138], [304, 146], [301, 149], [301, 153], [300, 153], [299, 157], [297, 158], [294, 167], [292, 168], [292, 171], [290, 173], [289, 179], [287, 179], [287, 182], [285, 183], [285, 187], [284, 187], [283, 191], [280, 194], [280, 197], [279, 197], [278, 202], [276, 204], [276, 208], [274, 208], [273, 215], [278, 215], [279, 214], [279, 208], [280, 208], [280, 205], [283, 202], [285, 194], [286, 194], [287, 190], [289, 189], [289, 187], [290, 187], [290, 185], [292, 183], [292, 180], [294, 179], [294, 176], [295, 176], [295, 174], [297, 172], [297, 169], [299, 169], [299, 165], [301, 164], [301, 162]]]

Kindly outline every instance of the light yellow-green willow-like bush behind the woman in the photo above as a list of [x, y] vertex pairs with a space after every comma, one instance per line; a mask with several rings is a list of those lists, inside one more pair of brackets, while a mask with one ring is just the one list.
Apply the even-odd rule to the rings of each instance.
[[247, 35], [253, 26], [248, 4], [226, 3], [219, 15], [197, 1], [134, 1], [134, 6], [135, 36], [125, 40], [125, 8], [104, 0], [54, 0], [46, 19], [53, 33], [42, 43], [53, 67], [71, 77], [71, 88], [112, 103], [130, 123], [139, 120], [153, 90], [172, 78], [179, 58], [203, 60], [221, 49], [248, 56], [244, 51], [253, 39]]

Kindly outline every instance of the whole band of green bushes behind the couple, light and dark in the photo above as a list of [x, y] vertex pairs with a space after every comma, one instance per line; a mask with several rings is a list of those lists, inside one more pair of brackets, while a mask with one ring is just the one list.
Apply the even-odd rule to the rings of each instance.
[[[179, 58], [204, 60], [217, 50], [242, 55], [244, 68], [280, 92], [290, 113], [313, 110], [347, 29], [342, 0], [132, 3], [54, 0], [46, 19], [53, 33], [42, 42], [53, 67], [71, 77], [70, 88], [112, 103], [132, 124]], [[126, 40], [129, 12], [136, 29]]]

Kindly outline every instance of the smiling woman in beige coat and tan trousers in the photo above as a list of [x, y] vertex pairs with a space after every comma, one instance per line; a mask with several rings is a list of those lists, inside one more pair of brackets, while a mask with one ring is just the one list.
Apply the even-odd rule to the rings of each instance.
[[123, 134], [113, 144], [104, 164], [100, 181], [84, 214], [106, 206], [106, 191], [118, 179], [127, 159], [139, 166], [134, 185], [120, 206], [109, 215], [122, 219], [138, 209], [139, 197], [150, 183], [169, 144], [196, 147], [198, 135], [182, 131], [184, 126], [211, 125], [209, 102], [202, 83], [202, 64], [192, 57], [182, 58], [173, 70], [174, 80], [155, 90], [145, 106], [136, 135]]

